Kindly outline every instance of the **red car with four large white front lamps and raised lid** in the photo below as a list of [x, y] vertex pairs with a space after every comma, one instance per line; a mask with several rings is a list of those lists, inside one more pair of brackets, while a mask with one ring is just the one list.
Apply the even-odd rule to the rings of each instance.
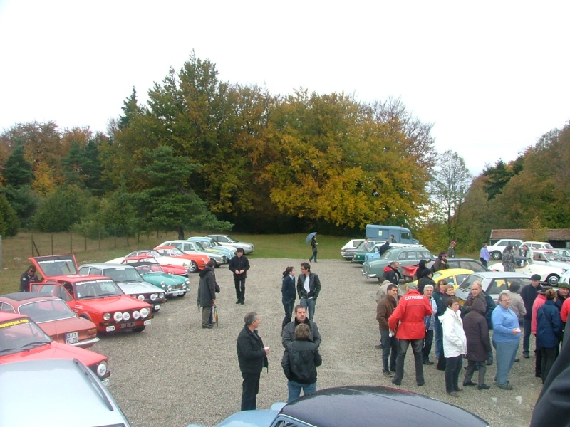
[[76, 312], [95, 323], [98, 332], [133, 330], [150, 325], [152, 306], [121, 290], [112, 279], [100, 275], [78, 275], [73, 255], [29, 258], [43, 277], [30, 290], [61, 298]]

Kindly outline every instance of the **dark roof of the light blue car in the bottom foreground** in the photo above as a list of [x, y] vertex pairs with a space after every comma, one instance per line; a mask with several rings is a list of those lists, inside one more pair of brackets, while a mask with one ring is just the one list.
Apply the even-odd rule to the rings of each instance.
[[314, 426], [488, 426], [462, 408], [410, 391], [383, 386], [322, 389], [284, 406], [281, 414]]

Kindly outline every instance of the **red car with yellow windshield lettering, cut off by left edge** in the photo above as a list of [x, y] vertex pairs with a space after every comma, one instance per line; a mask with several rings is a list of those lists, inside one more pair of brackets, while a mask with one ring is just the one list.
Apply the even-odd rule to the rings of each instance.
[[0, 364], [34, 359], [78, 359], [109, 384], [108, 359], [102, 354], [54, 342], [29, 317], [0, 312]]

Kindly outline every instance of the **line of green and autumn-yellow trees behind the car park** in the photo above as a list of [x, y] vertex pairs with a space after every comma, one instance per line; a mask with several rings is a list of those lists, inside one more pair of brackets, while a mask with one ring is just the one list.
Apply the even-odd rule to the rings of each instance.
[[[233, 227], [358, 236], [367, 223], [385, 223], [408, 226], [428, 242], [480, 244], [498, 224], [527, 223], [530, 216], [554, 226], [567, 217], [535, 209], [531, 200], [567, 197], [562, 185], [548, 191], [553, 168], [536, 170], [541, 161], [560, 159], [546, 159], [546, 152], [563, 131], [474, 179], [457, 153], [435, 151], [432, 125], [400, 100], [358, 102], [302, 88], [273, 95], [217, 75], [214, 63], [192, 53], [155, 83], [145, 104], [133, 88], [106, 132], [59, 130], [55, 122], [2, 132], [0, 234], [177, 230], [182, 237], [185, 230]], [[528, 195], [520, 205], [507, 203], [507, 194], [521, 191]], [[471, 230], [475, 224], [482, 229]]]

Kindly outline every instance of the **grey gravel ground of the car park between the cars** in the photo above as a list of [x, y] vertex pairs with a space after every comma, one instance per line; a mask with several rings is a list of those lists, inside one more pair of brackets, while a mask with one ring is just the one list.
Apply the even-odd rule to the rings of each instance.
[[[214, 426], [239, 411], [242, 378], [235, 342], [249, 311], [261, 318], [259, 334], [271, 349], [269, 370], [261, 374], [257, 407], [269, 408], [276, 401], [286, 401], [286, 379], [281, 369], [281, 272], [293, 265], [299, 274], [302, 260], [249, 261], [245, 305], [235, 304], [229, 270], [216, 270], [222, 288], [217, 300], [219, 327], [202, 329], [196, 306], [199, 278], [191, 275], [191, 292], [167, 302], [144, 332], [105, 336], [92, 347], [109, 358], [109, 389], [133, 427]], [[375, 320], [378, 284], [361, 277], [360, 265], [343, 260], [321, 260], [312, 265], [312, 270], [322, 284], [315, 316], [323, 337], [318, 389], [355, 384], [393, 386], [382, 376], [381, 352], [374, 347], [380, 341]], [[443, 372], [435, 365], [426, 366], [424, 371], [425, 386], [418, 387], [409, 349], [400, 388], [461, 406], [492, 426], [528, 426], [541, 390], [540, 380], [534, 378], [534, 359], [521, 358], [514, 364], [510, 375], [514, 390], [466, 387], [460, 398], [445, 393]], [[494, 384], [494, 372], [494, 366], [488, 367], [487, 384]], [[461, 420], [457, 422], [460, 425]]]

